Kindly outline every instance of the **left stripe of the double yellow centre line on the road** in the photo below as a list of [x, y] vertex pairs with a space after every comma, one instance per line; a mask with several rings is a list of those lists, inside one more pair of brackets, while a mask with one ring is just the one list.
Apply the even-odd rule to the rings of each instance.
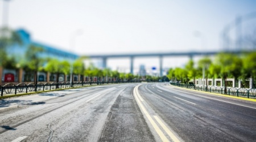
[[[140, 85], [138, 85], [140, 86]], [[167, 139], [167, 137], [164, 135], [164, 133], [160, 130], [160, 128], [157, 126], [157, 124], [155, 123], [155, 121], [152, 119], [152, 117], [150, 116], [150, 114], [148, 114], [146, 108], [144, 108], [144, 106], [142, 105], [142, 102], [139, 100], [139, 94], [137, 94], [137, 90], [138, 90], [138, 86], [136, 86], [134, 88], [134, 97], [135, 97], [135, 100], [137, 101], [138, 105], [140, 106], [141, 108], [141, 111], [143, 112], [144, 115], [146, 115], [148, 121], [151, 123], [151, 125], [154, 127], [156, 133], [158, 133], [160, 139], [162, 141], [169, 141]]]

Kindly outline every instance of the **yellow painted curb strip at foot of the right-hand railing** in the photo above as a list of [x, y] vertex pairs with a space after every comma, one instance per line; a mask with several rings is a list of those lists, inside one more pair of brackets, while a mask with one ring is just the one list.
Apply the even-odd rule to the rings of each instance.
[[230, 96], [230, 95], [225, 95], [225, 94], [217, 94], [217, 93], [212, 93], [212, 92], [207, 92], [207, 91], [199, 91], [199, 90], [187, 89], [187, 88], [183, 88], [183, 87], [177, 87], [177, 86], [174, 86], [174, 85], [169, 85], [169, 86], [176, 87], [176, 88], [179, 88], [179, 89], [189, 90], [189, 91], [196, 91], [196, 92], [199, 92], [199, 93], [206, 93], [206, 94], [218, 95], [218, 96], [222, 96], [222, 97], [228, 97], [228, 98], [234, 98], [234, 99], [242, 99], [244, 101], [256, 102], [256, 99], [253, 99], [253, 98], [235, 97], [235, 96]]

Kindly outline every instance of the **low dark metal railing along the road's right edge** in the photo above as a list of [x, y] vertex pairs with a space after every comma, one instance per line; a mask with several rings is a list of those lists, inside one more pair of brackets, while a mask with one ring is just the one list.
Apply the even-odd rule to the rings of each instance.
[[191, 85], [191, 84], [184, 84], [184, 83], [170, 83], [170, 84], [174, 86], [184, 87], [187, 89], [193, 89], [193, 90], [207, 91], [207, 92], [226, 94], [226, 95], [234, 95], [237, 97], [256, 98], [256, 89], [226, 87], [226, 92], [225, 92], [225, 87], [221, 87], [221, 86]]

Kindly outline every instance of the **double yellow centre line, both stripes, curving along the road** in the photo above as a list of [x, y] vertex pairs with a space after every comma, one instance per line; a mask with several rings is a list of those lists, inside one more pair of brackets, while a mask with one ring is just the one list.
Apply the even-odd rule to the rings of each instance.
[[[150, 122], [150, 124], [152, 125], [152, 127], [154, 128], [154, 130], [156, 131], [156, 133], [158, 133], [160, 139], [162, 141], [169, 141], [168, 138], [166, 137], [166, 135], [164, 135], [163, 131], [158, 127], [158, 124], [163, 128], [163, 130], [168, 134], [168, 136], [170, 136], [172, 141], [180, 141], [175, 135], [174, 133], [172, 133], [168, 127], [162, 122], [162, 120], [160, 120], [158, 118], [158, 116], [153, 115], [153, 117], [155, 118], [156, 122], [158, 124], [156, 124], [155, 120], [151, 117], [151, 115], [148, 113], [148, 111], [146, 110], [146, 108], [144, 107], [143, 103], [144, 100], [142, 99], [141, 95], [139, 94], [139, 90], [138, 87], [140, 85], [136, 86], [133, 90], [133, 95], [135, 97], [136, 102], [139, 105], [139, 108], [141, 109], [141, 112], [143, 115], [146, 116], [146, 118], [148, 119], [148, 121]], [[146, 103], [146, 102], [145, 102]]]

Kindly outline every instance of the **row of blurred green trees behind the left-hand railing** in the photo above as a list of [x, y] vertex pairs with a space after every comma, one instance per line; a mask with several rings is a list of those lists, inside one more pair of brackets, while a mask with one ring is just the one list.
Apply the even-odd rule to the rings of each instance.
[[[116, 78], [117, 80], [139, 80], [141, 77], [134, 76], [131, 73], [119, 73], [116, 70], [98, 69], [92, 64], [84, 65], [82, 59], [75, 61], [58, 60], [49, 58], [44, 51], [44, 48], [35, 44], [30, 44], [24, 56], [8, 54], [8, 48], [17, 45], [22, 48], [23, 43], [18, 33], [9, 28], [0, 29], [0, 66], [5, 69], [20, 69], [34, 74], [34, 82], [37, 81], [38, 72], [50, 72], [56, 74], [57, 82], [59, 75], [65, 74], [80, 74], [86, 77], [99, 77], [99, 80], [107, 81], [108, 77]], [[72, 65], [72, 66], [71, 66]], [[72, 71], [71, 71], [72, 69]], [[158, 78], [147, 76], [148, 81], [156, 81]]]

